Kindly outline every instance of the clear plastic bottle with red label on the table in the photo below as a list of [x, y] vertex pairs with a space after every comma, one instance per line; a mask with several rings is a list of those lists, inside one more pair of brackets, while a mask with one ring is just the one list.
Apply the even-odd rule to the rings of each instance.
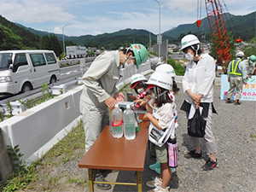
[[123, 112], [118, 104], [115, 104], [111, 113], [112, 135], [115, 138], [123, 137]]

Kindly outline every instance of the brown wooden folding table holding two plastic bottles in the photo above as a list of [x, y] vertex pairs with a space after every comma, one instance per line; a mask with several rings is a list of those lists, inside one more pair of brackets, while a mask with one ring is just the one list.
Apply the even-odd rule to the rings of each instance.
[[[111, 126], [106, 126], [96, 142], [93, 143], [83, 159], [80, 168], [88, 168], [90, 192], [94, 191], [94, 183], [136, 185], [138, 191], [143, 190], [142, 172], [148, 142], [148, 121], [139, 124], [140, 129], [134, 140], [125, 137], [114, 138]], [[96, 182], [92, 169], [123, 170], [137, 172], [137, 183]]]

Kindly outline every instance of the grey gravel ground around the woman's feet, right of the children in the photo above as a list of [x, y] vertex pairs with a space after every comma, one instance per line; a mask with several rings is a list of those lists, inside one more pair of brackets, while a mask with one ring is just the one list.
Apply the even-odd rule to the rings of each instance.
[[[218, 114], [213, 114], [212, 129], [218, 146], [218, 167], [202, 171], [207, 159], [203, 142], [201, 160], [183, 157], [192, 144], [186, 134], [185, 113], [178, 110], [179, 166], [176, 179], [173, 176], [170, 182], [171, 191], [256, 191], [256, 102], [244, 101], [236, 106], [221, 101], [219, 96], [220, 86], [215, 85], [213, 104]], [[176, 98], [180, 108], [183, 93], [179, 92]]]

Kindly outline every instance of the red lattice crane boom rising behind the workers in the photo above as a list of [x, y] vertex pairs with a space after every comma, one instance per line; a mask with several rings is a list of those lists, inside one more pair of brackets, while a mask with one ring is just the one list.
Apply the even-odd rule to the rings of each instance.
[[223, 67], [227, 67], [231, 60], [230, 41], [226, 30], [224, 15], [218, 0], [205, 0], [207, 18], [212, 32], [213, 44], [216, 49], [218, 60]]

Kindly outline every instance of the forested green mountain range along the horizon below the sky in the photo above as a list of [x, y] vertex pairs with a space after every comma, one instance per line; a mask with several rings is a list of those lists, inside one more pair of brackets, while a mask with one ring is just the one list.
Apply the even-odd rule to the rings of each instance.
[[[236, 16], [224, 14], [226, 29], [235, 38], [241, 37], [243, 41], [250, 41], [255, 37], [256, 11], [251, 14]], [[207, 39], [212, 40], [207, 17], [202, 19], [200, 31], [207, 34]], [[196, 23], [179, 25], [169, 31], [163, 32], [163, 40], [168, 38], [170, 42], [179, 42], [179, 39], [189, 32], [197, 33]], [[143, 29], [124, 29], [118, 32], [104, 33], [100, 35], [84, 35], [79, 37], [65, 36], [66, 45], [84, 45], [86, 47], [96, 47], [101, 49], [119, 49], [129, 44], [140, 43], [149, 46], [149, 33], [151, 33], [152, 44], [156, 44], [156, 34]], [[39, 49], [40, 38], [44, 35], [50, 36], [49, 32], [42, 32], [20, 24], [15, 24], [6, 20], [0, 15], [0, 50], [3, 49]], [[62, 42], [62, 35], [55, 34]], [[62, 46], [62, 44], [61, 44]]]

